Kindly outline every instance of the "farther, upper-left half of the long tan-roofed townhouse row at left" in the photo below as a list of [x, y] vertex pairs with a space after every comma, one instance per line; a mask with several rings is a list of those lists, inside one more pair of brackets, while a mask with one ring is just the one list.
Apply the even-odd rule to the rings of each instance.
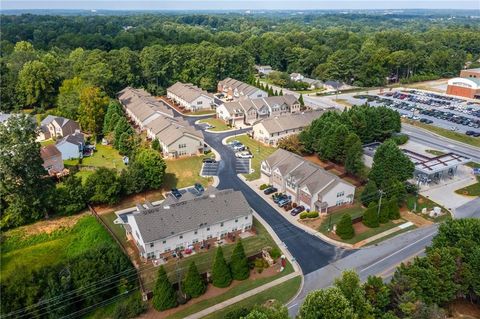
[[140, 130], [159, 117], [174, 117], [172, 109], [165, 102], [155, 99], [143, 89], [126, 87], [117, 93], [117, 98], [127, 116]]

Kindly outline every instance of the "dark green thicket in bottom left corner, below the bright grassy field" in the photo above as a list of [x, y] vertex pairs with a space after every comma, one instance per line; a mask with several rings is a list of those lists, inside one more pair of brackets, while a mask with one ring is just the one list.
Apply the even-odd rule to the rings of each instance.
[[118, 248], [105, 246], [38, 270], [17, 269], [1, 282], [1, 312], [15, 312], [14, 318], [58, 318], [136, 287], [129, 259]]

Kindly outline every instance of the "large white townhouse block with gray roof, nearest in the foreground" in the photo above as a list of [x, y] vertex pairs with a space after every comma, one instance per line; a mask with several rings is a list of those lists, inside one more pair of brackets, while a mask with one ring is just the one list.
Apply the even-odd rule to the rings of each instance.
[[124, 226], [143, 258], [157, 259], [176, 250], [202, 245], [252, 227], [252, 209], [240, 191], [231, 189], [182, 200], [167, 198], [158, 206], [137, 205]]

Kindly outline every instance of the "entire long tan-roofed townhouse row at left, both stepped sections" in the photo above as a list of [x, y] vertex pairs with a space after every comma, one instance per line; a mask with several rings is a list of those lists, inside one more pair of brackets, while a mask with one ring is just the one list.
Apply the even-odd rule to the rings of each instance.
[[173, 117], [163, 101], [141, 89], [127, 87], [118, 93], [126, 114], [150, 139], [158, 139], [165, 157], [203, 154], [208, 148], [203, 133], [188, 122]]

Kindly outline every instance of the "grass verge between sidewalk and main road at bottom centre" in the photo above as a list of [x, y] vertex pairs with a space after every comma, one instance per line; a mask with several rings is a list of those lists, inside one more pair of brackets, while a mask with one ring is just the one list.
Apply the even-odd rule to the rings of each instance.
[[298, 289], [300, 289], [301, 283], [302, 283], [302, 278], [300, 276], [294, 277], [275, 287], [269, 288], [255, 295], [254, 297], [244, 299], [232, 306], [228, 306], [220, 311], [217, 311], [206, 317], [203, 317], [202, 319], [223, 319], [226, 317], [226, 315], [229, 312], [233, 310], [240, 309], [240, 308], [251, 309], [253, 308], [253, 306], [262, 305], [271, 299], [275, 299], [280, 303], [285, 304], [295, 296]]

